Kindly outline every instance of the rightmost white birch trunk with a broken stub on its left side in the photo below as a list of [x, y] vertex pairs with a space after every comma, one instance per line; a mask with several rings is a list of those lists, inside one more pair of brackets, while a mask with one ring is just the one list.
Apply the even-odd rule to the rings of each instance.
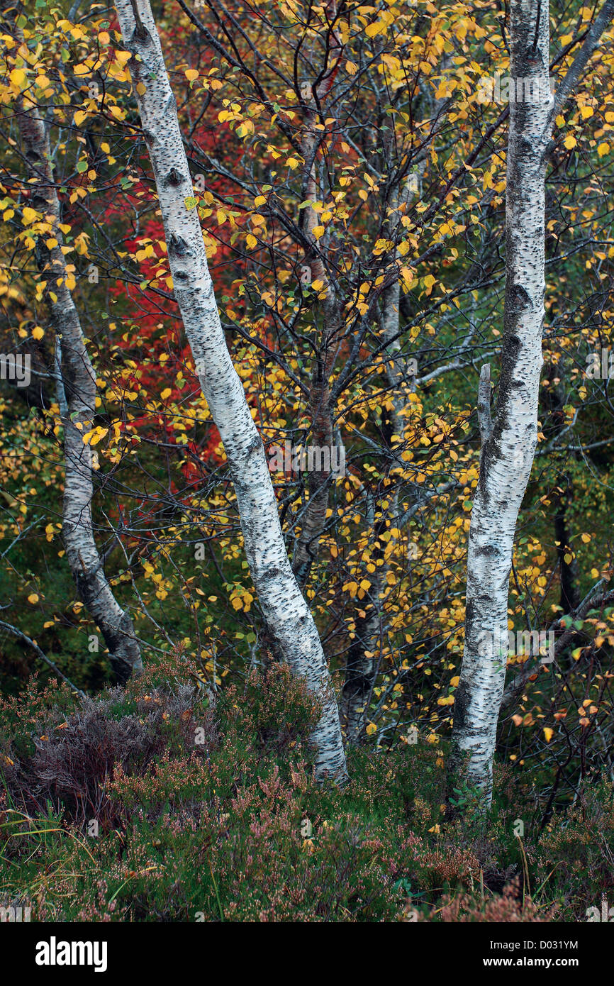
[[[480, 379], [480, 472], [467, 556], [465, 643], [454, 702], [452, 783], [492, 801], [497, 722], [506, 678], [508, 593], [516, 520], [537, 444], [544, 320], [545, 172], [551, 130], [548, 0], [512, 0], [512, 80], [533, 95], [510, 106], [506, 297], [499, 399], [490, 416], [490, 369]], [[512, 86], [511, 86], [512, 88]], [[462, 780], [461, 780], [462, 779]]]

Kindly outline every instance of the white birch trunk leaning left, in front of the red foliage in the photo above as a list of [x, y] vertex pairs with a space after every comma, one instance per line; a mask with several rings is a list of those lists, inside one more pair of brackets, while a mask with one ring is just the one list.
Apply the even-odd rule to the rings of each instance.
[[185, 207], [192, 183], [149, 0], [118, 0], [115, 7], [124, 45], [132, 52], [129, 67], [158, 189], [174, 295], [229, 460], [253, 584], [276, 649], [322, 702], [311, 737], [315, 777], [342, 783], [345, 753], [326, 660], [290, 566], [264, 447], [226, 345], [198, 213]]

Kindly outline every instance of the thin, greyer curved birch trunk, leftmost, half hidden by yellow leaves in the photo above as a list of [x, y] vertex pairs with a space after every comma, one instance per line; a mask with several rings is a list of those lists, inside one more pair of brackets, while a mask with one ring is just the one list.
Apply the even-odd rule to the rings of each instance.
[[139, 643], [127, 609], [113, 596], [102, 568], [92, 523], [92, 449], [83, 435], [96, 415], [96, 374], [86, 349], [62, 252], [60, 206], [53, 178], [49, 138], [34, 104], [24, 97], [17, 110], [34, 208], [46, 216], [56, 246], [36, 247], [38, 268], [47, 281], [46, 300], [56, 339], [58, 403], [64, 427], [62, 537], [66, 557], [84, 604], [99, 626], [117, 679], [124, 683], [143, 670]]

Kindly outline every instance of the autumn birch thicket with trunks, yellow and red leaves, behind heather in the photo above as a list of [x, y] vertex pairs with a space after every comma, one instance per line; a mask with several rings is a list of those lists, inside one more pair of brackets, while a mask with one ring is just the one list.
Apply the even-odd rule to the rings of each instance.
[[320, 778], [338, 706], [614, 780], [612, 5], [118, 14], [3, 14], [3, 689], [281, 661]]

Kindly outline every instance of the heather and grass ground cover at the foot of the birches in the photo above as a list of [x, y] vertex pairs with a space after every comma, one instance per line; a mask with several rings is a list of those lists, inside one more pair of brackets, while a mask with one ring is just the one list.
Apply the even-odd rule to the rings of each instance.
[[318, 715], [284, 666], [211, 690], [178, 652], [87, 699], [32, 681], [0, 702], [0, 903], [60, 921], [532, 922], [582, 920], [611, 886], [611, 786], [540, 835], [498, 767], [490, 814], [452, 821], [433, 736], [368, 740], [345, 788], [317, 787]]

